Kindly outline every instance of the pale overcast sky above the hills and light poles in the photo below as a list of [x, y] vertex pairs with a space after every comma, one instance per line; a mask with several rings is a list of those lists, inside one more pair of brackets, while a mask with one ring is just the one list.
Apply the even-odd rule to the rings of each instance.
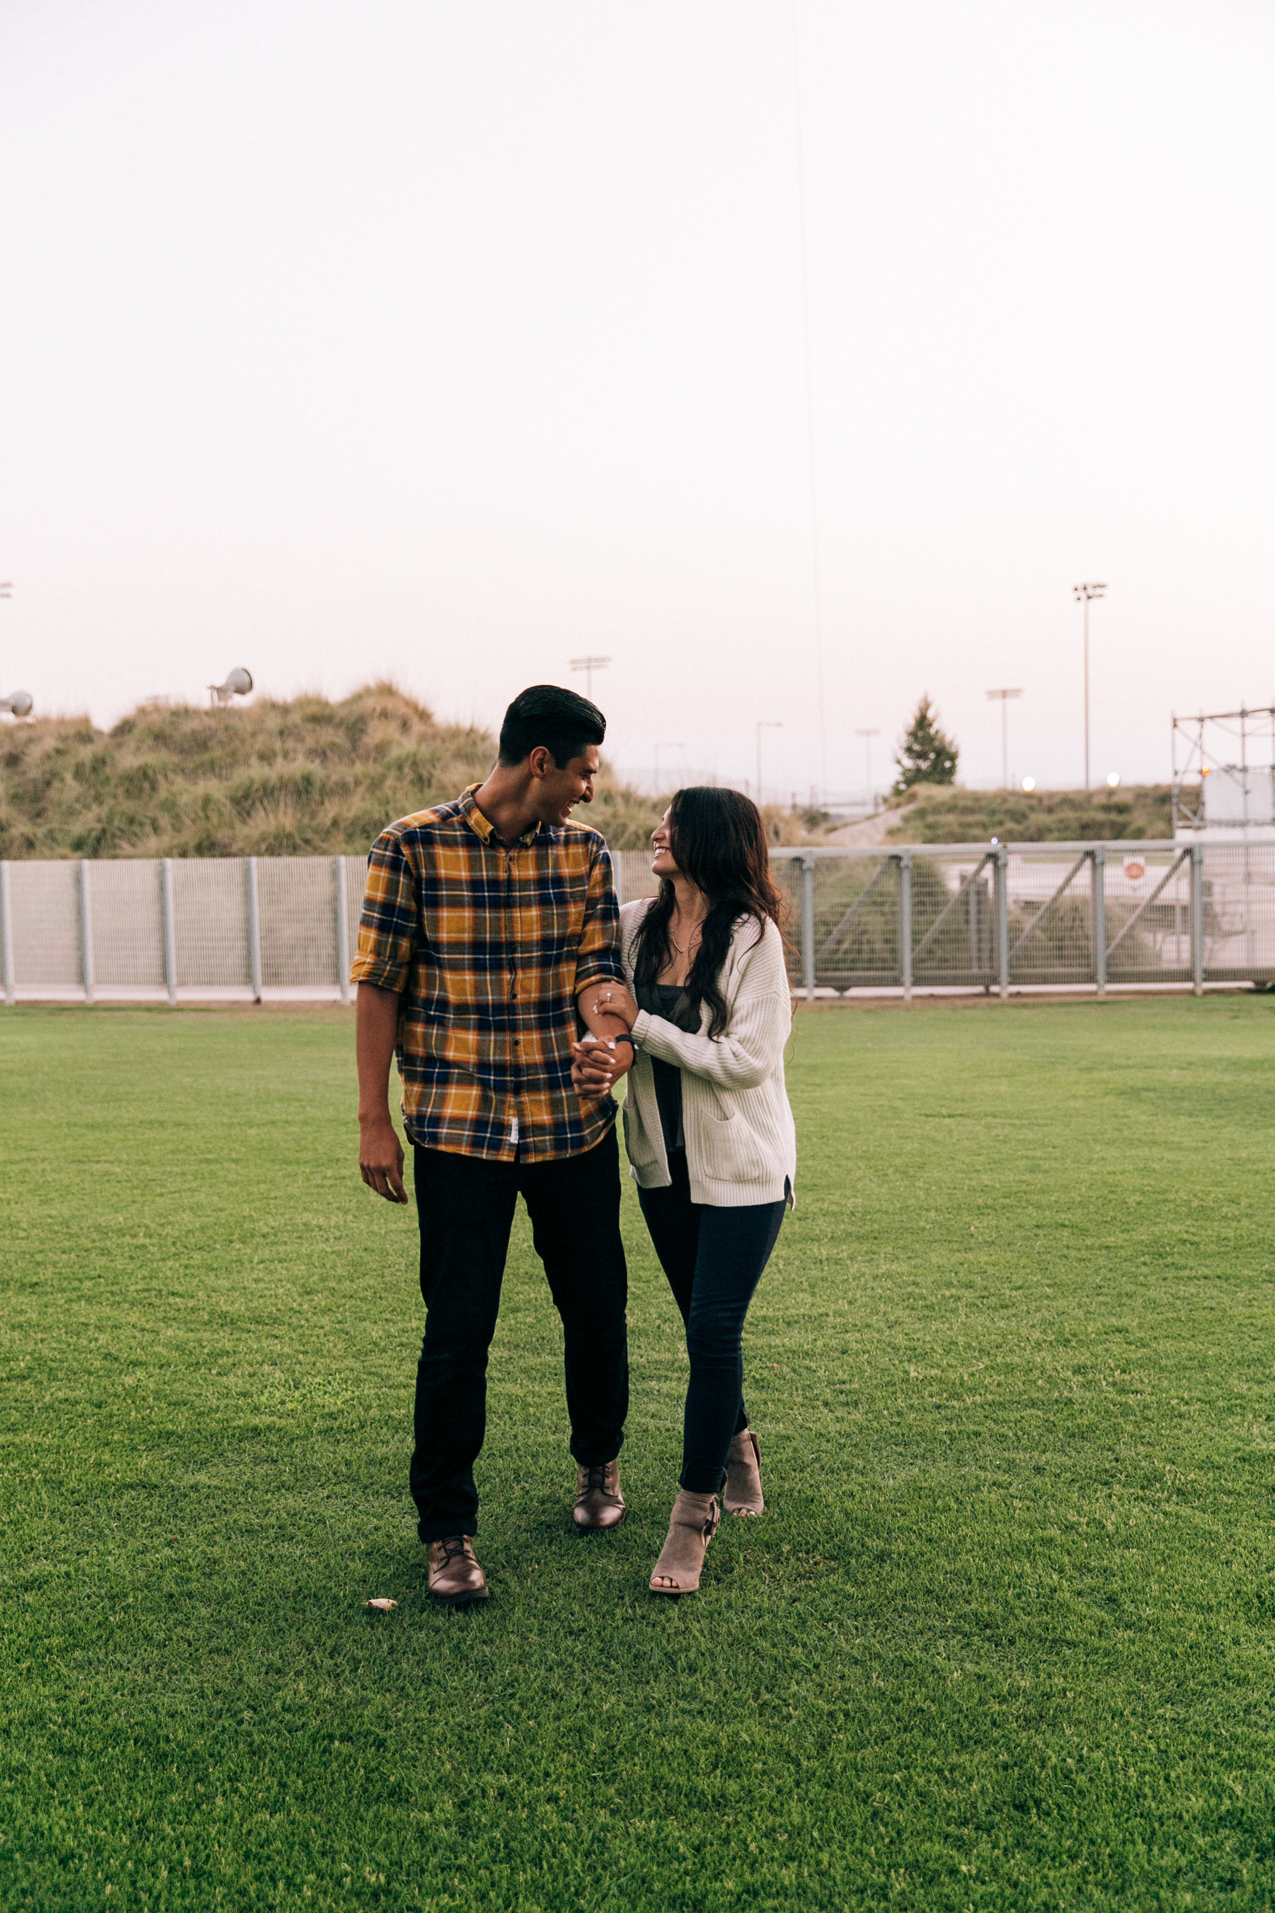
[[[826, 782], [1275, 700], [1269, 0], [799, 0]], [[247, 664], [824, 782], [786, 0], [6, 0], [0, 691]], [[665, 765], [677, 754], [665, 750]]]

